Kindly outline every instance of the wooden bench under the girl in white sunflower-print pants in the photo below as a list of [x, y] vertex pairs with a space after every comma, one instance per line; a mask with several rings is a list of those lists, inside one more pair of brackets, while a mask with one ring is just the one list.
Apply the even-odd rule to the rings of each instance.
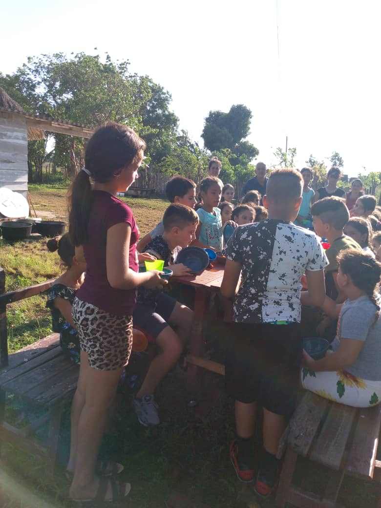
[[[299, 508], [338, 507], [336, 501], [344, 475], [375, 479], [375, 468], [381, 467], [376, 460], [380, 426], [381, 404], [356, 409], [305, 392], [280, 442], [278, 457], [284, 451], [285, 457], [276, 506], [283, 507], [289, 502]], [[331, 470], [322, 495], [293, 484], [298, 456]]]

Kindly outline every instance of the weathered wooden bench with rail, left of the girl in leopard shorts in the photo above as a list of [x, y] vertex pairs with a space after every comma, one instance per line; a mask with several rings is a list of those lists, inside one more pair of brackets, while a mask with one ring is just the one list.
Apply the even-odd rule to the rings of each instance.
[[[53, 333], [8, 356], [7, 304], [44, 293], [53, 281], [0, 294], [0, 442], [10, 442], [29, 453], [48, 460], [53, 474], [57, 459], [58, 436], [63, 405], [71, 397], [78, 380], [79, 368], [59, 346], [59, 334]], [[0, 293], [5, 273], [0, 269]], [[25, 400], [45, 411], [41, 417], [20, 429], [5, 420], [7, 394]], [[34, 436], [48, 423], [46, 442]]]

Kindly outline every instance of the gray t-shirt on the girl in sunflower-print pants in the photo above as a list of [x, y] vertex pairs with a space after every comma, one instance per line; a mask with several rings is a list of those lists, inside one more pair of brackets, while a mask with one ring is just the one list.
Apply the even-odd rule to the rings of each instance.
[[376, 308], [367, 296], [345, 300], [337, 324], [334, 351], [343, 339], [363, 340], [364, 346], [356, 362], [346, 372], [368, 381], [381, 381], [381, 319], [374, 323]]

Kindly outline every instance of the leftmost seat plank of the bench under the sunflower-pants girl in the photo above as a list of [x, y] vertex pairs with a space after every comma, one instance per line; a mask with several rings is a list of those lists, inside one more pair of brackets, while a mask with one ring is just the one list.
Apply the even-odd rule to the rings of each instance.
[[290, 421], [289, 444], [306, 457], [328, 407], [328, 400], [306, 392]]

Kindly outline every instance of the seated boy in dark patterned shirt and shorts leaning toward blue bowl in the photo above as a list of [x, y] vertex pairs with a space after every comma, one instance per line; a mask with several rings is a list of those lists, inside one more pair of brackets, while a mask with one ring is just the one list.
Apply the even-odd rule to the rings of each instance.
[[[164, 233], [156, 236], [145, 247], [155, 259], [164, 260], [174, 275], [187, 275], [189, 268], [174, 265], [176, 247], [186, 247], [195, 238], [199, 218], [193, 208], [170, 205], [163, 216]], [[189, 335], [193, 311], [160, 290], [139, 288], [133, 313], [134, 325], [152, 337], [161, 348], [151, 362], [133, 405], [139, 422], [144, 426], [157, 425], [160, 419], [153, 393], [163, 377], [175, 365]], [[174, 325], [177, 333], [171, 328]]]

